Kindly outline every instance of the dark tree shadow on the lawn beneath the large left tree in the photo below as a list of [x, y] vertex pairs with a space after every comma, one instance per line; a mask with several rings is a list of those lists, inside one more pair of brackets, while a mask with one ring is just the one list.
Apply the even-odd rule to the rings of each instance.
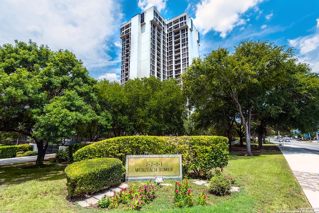
[[56, 164], [51, 161], [43, 162], [42, 167], [35, 167], [34, 162], [0, 165], [0, 185], [21, 184], [23, 182], [38, 180], [51, 181], [65, 179], [66, 164]]

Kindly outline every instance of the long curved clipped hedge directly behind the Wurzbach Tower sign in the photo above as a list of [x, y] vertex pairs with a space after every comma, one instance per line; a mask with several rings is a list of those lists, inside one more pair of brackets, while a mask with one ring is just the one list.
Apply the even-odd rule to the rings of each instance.
[[183, 172], [210, 176], [211, 170], [228, 163], [228, 139], [221, 136], [127, 136], [99, 141], [73, 154], [74, 161], [117, 158], [126, 163], [126, 155], [182, 155]]

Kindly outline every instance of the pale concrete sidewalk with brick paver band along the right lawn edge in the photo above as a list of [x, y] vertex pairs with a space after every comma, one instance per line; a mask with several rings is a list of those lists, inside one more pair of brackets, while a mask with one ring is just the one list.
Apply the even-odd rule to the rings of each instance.
[[319, 210], [319, 155], [296, 145], [279, 145], [314, 211]]

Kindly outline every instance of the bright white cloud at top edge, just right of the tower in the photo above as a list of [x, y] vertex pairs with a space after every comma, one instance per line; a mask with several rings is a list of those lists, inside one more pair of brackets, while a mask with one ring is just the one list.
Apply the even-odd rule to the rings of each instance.
[[210, 30], [220, 32], [221, 37], [226, 37], [235, 26], [244, 24], [246, 20], [241, 14], [263, 0], [201, 0], [196, 5], [195, 26], [203, 33]]

